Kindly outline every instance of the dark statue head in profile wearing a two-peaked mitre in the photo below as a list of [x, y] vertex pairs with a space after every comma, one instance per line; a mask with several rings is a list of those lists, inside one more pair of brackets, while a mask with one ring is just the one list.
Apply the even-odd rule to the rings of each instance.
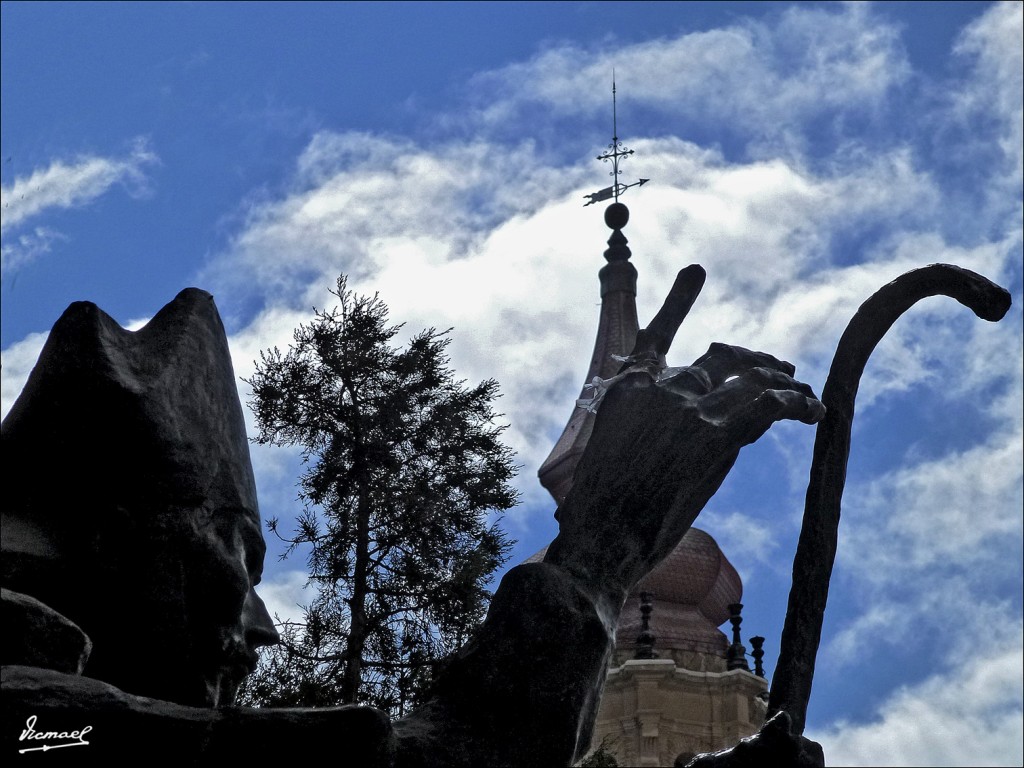
[[213, 297], [182, 291], [135, 333], [72, 304], [0, 442], [3, 586], [81, 627], [86, 675], [230, 701], [276, 634], [252, 591], [264, 544]]

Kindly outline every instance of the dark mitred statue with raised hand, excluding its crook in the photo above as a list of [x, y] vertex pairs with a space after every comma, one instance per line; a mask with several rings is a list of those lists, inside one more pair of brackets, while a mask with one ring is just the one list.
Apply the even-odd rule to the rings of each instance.
[[[313, 742], [380, 768], [570, 764], [590, 745], [627, 594], [680, 542], [743, 445], [781, 419], [813, 424], [824, 415], [793, 366], [761, 352], [715, 344], [690, 367], [658, 362], [703, 279], [695, 265], [679, 273], [621, 373], [598, 389], [593, 435], [544, 561], [505, 575], [479, 635], [441, 671], [427, 703], [395, 723], [365, 707], [181, 706], [229, 700], [240, 660], [272, 639], [251, 591], [262, 541], [226, 342], [212, 300], [198, 291], [158, 314], [136, 335], [153, 341], [137, 346], [94, 306], [73, 305], [66, 317], [93, 319], [72, 323], [74, 333], [54, 329], [54, 348], [3, 424], [5, 470], [13, 464], [25, 478], [8, 507], [11, 554], [5, 517], [3, 577], [55, 609], [22, 600], [23, 614], [34, 616], [26, 627], [62, 627], [63, 617], [85, 630], [104, 659], [90, 657], [85, 674], [101, 680], [75, 674], [74, 659], [9, 658], [5, 644], [4, 738], [50, 731], [82, 740], [88, 727], [84, 749], [94, 759], [159, 751], [185, 765], [293, 759]], [[83, 374], [82, 391], [47, 383], [77, 382], [93, 368], [132, 373], [96, 382]], [[33, 481], [40, 462], [60, 482]], [[101, 574], [79, 570], [87, 565]], [[84, 594], [82, 585], [111, 592]], [[793, 723], [779, 712], [732, 753], [696, 760], [820, 765], [820, 746]], [[36, 745], [31, 735], [17, 748]]]

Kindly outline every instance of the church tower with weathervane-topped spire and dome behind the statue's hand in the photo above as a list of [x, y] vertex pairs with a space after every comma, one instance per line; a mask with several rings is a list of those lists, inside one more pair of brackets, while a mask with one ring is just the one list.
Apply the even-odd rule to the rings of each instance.
[[[577, 465], [594, 430], [597, 414], [589, 402], [595, 394], [594, 380], [618, 374], [624, 358], [633, 352], [639, 328], [637, 270], [623, 234], [630, 212], [618, 198], [647, 179], [632, 184], [618, 181], [618, 164], [633, 151], [618, 140], [614, 81], [611, 93], [611, 143], [597, 159], [611, 163], [614, 180], [611, 186], [585, 196], [589, 200], [585, 205], [612, 201], [604, 211], [611, 236], [604, 252], [607, 263], [598, 272], [597, 338], [581, 402], [538, 472], [541, 484], [558, 504], [572, 487]], [[527, 562], [543, 557], [544, 550]], [[609, 751], [623, 765], [684, 765], [697, 753], [734, 744], [758, 730], [767, 707], [764, 671], [760, 662], [755, 672], [749, 671], [738, 629], [731, 646], [718, 629], [730, 620], [738, 628], [742, 592], [739, 573], [714, 538], [691, 527], [626, 598], [592, 750], [610, 737]], [[764, 655], [761, 639], [757, 638], [756, 647]]]

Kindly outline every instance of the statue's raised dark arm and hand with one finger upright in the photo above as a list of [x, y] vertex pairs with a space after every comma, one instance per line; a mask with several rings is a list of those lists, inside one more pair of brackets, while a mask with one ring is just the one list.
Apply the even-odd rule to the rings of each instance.
[[502, 581], [477, 640], [433, 699], [395, 723], [398, 765], [569, 765], [589, 749], [614, 627], [630, 589], [682, 539], [739, 450], [780, 419], [824, 411], [794, 368], [713, 345], [659, 359], [703, 282], [680, 272], [597, 412], [544, 561]]

